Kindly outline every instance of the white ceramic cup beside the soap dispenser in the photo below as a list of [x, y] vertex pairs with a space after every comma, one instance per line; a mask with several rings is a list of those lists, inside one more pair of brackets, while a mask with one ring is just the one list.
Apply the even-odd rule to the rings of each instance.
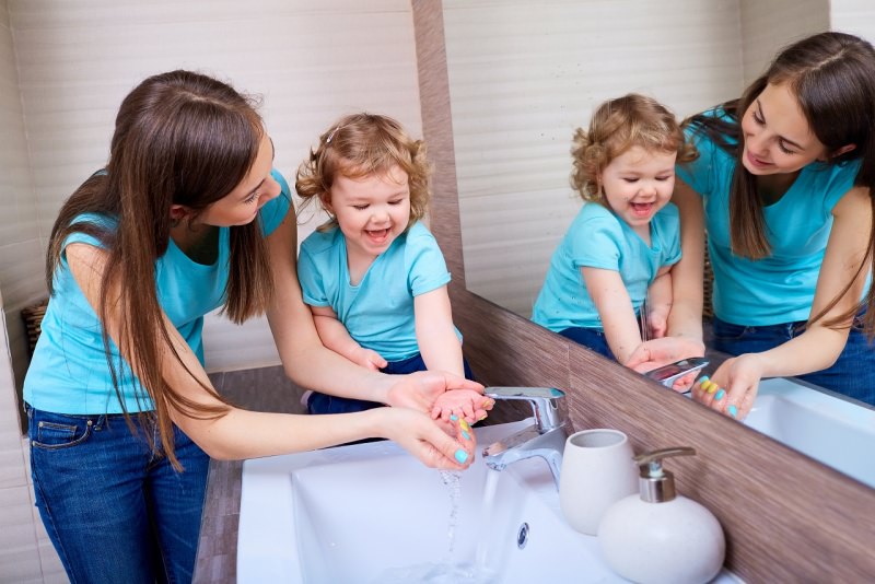
[[638, 467], [619, 430], [583, 430], [568, 437], [559, 475], [559, 504], [578, 532], [596, 535], [610, 505], [638, 492]]

